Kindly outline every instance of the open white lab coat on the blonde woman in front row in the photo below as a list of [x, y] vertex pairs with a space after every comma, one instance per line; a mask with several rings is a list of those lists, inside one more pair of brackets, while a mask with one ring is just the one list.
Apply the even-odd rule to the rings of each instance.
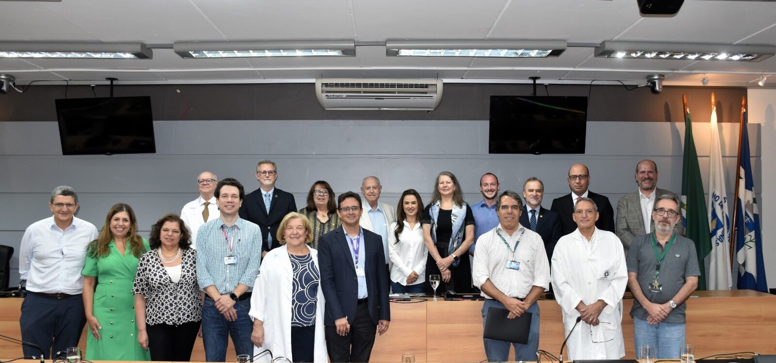
[[[318, 251], [310, 248], [315, 265], [318, 265]], [[269, 251], [262, 258], [256, 283], [251, 296], [251, 320], [264, 322], [264, 345], [254, 347], [254, 354], [269, 349], [274, 357], [291, 356], [291, 289], [293, 270], [286, 245]], [[326, 362], [326, 338], [324, 336], [324, 293], [318, 285], [315, 315], [314, 361]], [[269, 354], [263, 354], [255, 361], [269, 361]]]

